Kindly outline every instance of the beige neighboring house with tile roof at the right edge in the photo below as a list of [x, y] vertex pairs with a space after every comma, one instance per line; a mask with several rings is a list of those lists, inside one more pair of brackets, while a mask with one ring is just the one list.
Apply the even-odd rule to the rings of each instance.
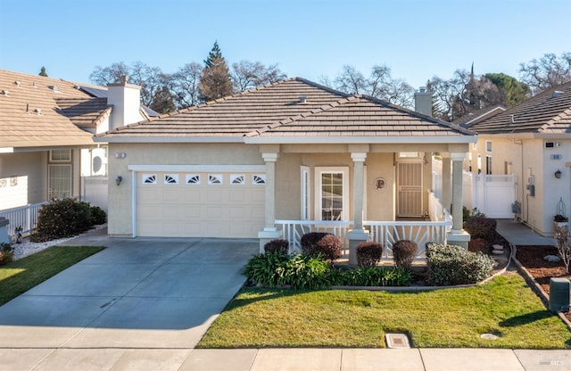
[[514, 174], [516, 218], [553, 235], [553, 216], [571, 211], [571, 83], [468, 128], [478, 135], [471, 170]]

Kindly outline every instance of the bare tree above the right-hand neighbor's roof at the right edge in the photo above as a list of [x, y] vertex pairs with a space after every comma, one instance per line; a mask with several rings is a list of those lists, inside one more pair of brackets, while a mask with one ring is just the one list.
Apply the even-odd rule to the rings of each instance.
[[571, 53], [544, 54], [538, 60], [519, 63], [520, 80], [532, 88], [532, 94], [571, 81]]

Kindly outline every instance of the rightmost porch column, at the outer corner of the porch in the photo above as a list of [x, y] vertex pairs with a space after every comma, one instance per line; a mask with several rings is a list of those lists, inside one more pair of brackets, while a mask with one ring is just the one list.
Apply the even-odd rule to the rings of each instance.
[[457, 244], [468, 249], [470, 235], [462, 228], [462, 163], [466, 153], [451, 153], [452, 161], [452, 230], [448, 235], [449, 244]]

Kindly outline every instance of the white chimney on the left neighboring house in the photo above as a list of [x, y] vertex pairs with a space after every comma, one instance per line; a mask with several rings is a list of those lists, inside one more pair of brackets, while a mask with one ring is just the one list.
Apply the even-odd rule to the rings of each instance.
[[144, 120], [139, 109], [141, 106], [141, 87], [120, 82], [107, 86], [107, 104], [112, 105], [109, 129], [124, 127]]

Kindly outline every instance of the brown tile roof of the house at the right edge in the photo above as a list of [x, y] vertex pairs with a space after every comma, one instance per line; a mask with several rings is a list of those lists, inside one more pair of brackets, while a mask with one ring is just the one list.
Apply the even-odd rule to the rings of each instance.
[[470, 129], [478, 134], [571, 134], [571, 82], [546, 89]]

